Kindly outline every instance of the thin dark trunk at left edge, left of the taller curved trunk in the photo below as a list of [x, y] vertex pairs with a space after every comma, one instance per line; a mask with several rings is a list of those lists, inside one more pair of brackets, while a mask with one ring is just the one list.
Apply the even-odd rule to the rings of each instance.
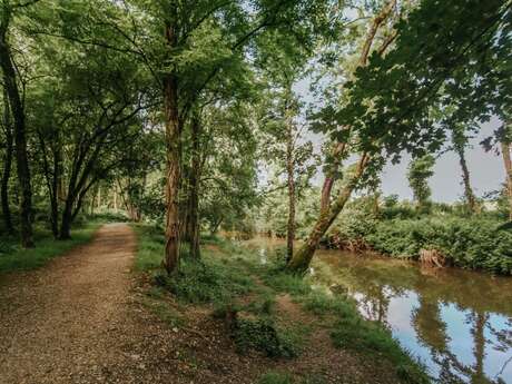
[[9, 208], [9, 179], [11, 177], [11, 165], [12, 165], [12, 130], [11, 130], [11, 119], [9, 110], [9, 100], [7, 96], [7, 90], [3, 89], [3, 127], [6, 130], [6, 156], [3, 158], [3, 171], [2, 171], [2, 185], [0, 197], [2, 200], [2, 216], [3, 224], [6, 226], [6, 232], [8, 234], [13, 234], [14, 228], [12, 226], [11, 210]]

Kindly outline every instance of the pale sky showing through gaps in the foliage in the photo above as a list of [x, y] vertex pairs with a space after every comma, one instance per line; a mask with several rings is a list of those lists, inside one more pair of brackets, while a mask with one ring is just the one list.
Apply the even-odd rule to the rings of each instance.
[[[294, 90], [305, 102], [315, 102], [307, 79], [296, 83]], [[483, 124], [479, 135], [470, 141], [471, 146], [466, 150], [471, 183], [477, 197], [500, 189], [505, 179], [501, 155], [494, 151], [486, 152], [480, 145], [484, 138], [493, 134], [499, 125], [498, 119], [491, 119], [491, 121]], [[316, 146], [323, 141], [322, 137], [315, 134], [311, 134], [307, 139], [311, 139]], [[413, 195], [406, 178], [410, 160], [411, 156], [404, 154], [400, 164], [392, 165], [390, 163], [386, 165], [382, 175], [382, 190], [385, 196], [396, 194], [401, 199], [412, 200]], [[323, 181], [323, 177], [316, 179], [314, 181], [318, 184]], [[462, 198], [461, 167], [459, 158], [453, 151], [445, 152], [437, 159], [434, 176], [429, 180], [429, 185], [432, 188], [434, 201], [453, 203]]]

